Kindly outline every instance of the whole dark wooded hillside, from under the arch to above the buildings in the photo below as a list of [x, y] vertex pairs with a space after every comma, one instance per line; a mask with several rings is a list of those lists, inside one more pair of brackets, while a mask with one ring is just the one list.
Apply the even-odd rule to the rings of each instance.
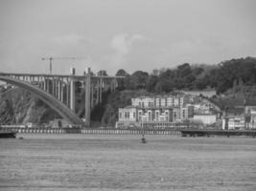
[[[256, 59], [253, 57], [231, 59], [212, 67], [185, 63], [176, 69], [154, 70], [151, 74], [143, 71], [128, 74], [119, 70], [116, 75], [125, 76], [125, 79], [116, 92], [105, 93], [103, 103], [94, 107], [91, 113], [93, 126], [114, 126], [118, 108], [130, 104], [130, 98], [135, 96], [158, 95], [177, 90], [204, 90], [211, 87], [220, 95], [212, 100], [221, 109], [243, 102], [245, 98], [256, 97]], [[76, 112], [83, 117], [84, 91], [79, 87], [77, 84]], [[0, 98], [2, 124], [42, 124], [58, 117], [40, 99], [20, 88], [0, 91]]]

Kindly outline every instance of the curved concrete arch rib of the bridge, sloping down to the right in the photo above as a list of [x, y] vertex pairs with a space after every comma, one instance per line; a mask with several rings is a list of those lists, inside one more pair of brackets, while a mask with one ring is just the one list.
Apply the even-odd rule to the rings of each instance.
[[72, 110], [70, 110], [65, 104], [59, 101], [56, 97], [42, 91], [35, 85], [28, 82], [12, 78], [6, 75], [0, 75], [0, 80], [11, 83], [15, 86], [21, 87], [25, 90], [38, 96], [43, 102], [45, 102], [50, 108], [55, 110], [60, 117], [63, 117], [70, 124], [83, 124], [83, 121]]

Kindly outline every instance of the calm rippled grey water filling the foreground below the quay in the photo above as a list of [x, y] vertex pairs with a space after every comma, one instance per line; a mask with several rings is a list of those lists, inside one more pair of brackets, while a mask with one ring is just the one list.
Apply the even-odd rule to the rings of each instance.
[[0, 140], [0, 190], [256, 190], [256, 138], [22, 137]]

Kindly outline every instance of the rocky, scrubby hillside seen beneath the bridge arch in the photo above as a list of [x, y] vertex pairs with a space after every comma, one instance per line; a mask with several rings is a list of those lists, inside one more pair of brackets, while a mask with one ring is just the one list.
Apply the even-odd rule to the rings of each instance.
[[58, 114], [28, 91], [20, 88], [0, 92], [0, 123], [47, 123]]

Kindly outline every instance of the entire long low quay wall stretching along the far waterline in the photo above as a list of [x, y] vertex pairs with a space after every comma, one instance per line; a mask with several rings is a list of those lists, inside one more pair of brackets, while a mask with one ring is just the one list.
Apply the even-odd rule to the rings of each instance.
[[[172, 135], [180, 137], [247, 136], [256, 137], [256, 130], [141, 130], [141, 129], [100, 129], [100, 128], [1, 128], [0, 137], [19, 134], [87, 134], [87, 135]], [[14, 133], [13, 133], [14, 132]]]

